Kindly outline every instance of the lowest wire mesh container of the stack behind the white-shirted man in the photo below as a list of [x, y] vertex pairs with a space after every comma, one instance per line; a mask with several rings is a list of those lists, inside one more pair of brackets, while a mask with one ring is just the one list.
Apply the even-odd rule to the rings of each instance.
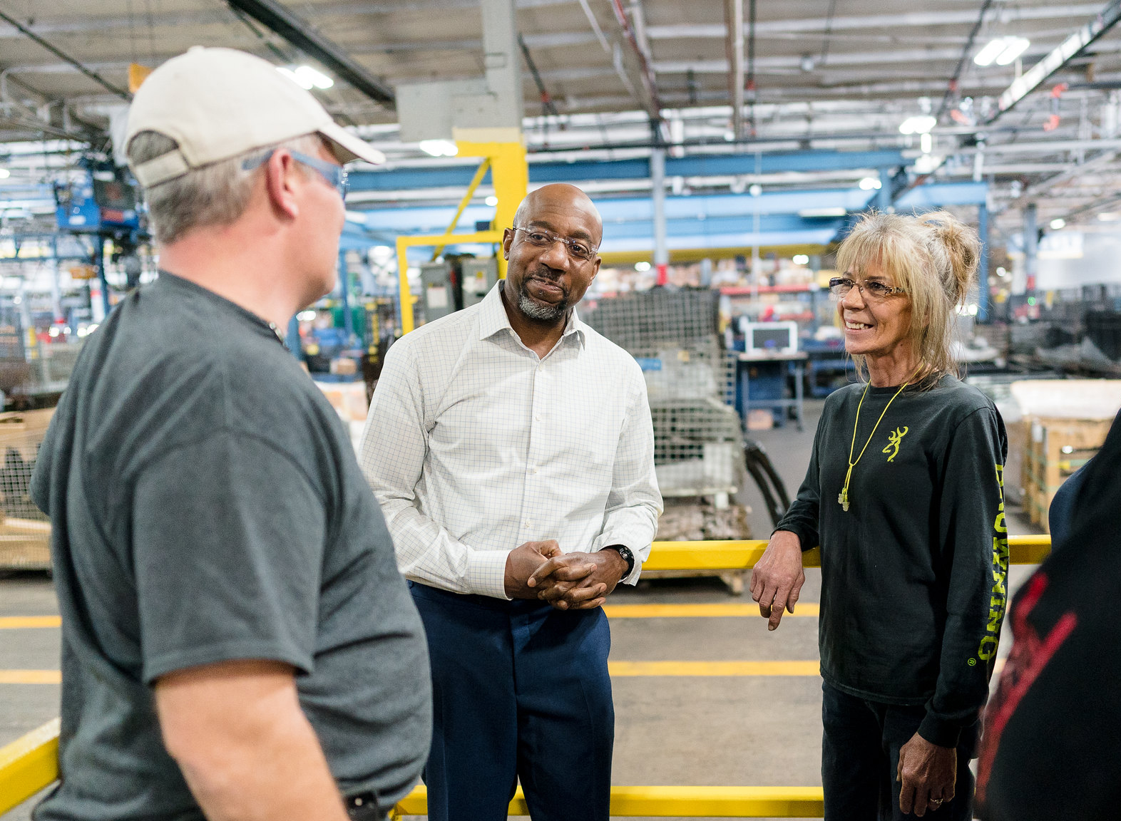
[[735, 409], [716, 399], [650, 407], [654, 464], [664, 496], [734, 494], [743, 475]]

